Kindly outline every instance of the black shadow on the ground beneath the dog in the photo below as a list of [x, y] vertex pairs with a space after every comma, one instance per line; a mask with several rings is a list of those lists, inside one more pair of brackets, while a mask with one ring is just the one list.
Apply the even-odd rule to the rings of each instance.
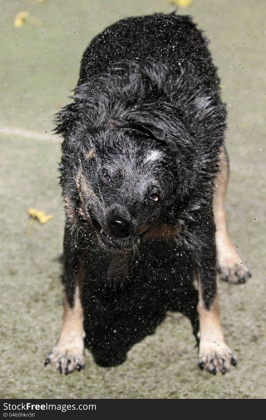
[[191, 256], [166, 241], [146, 243], [139, 252], [122, 284], [107, 281], [108, 256], [97, 252], [88, 263], [90, 280], [83, 293], [85, 345], [100, 366], [123, 363], [129, 349], [154, 333], [168, 310], [186, 315], [197, 337], [198, 291], [192, 281]]

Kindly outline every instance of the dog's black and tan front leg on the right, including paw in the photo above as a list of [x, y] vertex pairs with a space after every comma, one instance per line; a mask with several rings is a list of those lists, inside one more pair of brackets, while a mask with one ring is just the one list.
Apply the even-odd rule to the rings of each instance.
[[[226, 344], [220, 320], [216, 285], [216, 248], [214, 226], [208, 220], [209, 232], [205, 231], [205, 245], [200, 249], [200, 256], [195, 272], [198, 280], [199, 300], [197, 305], [199, 318], [199, 367], [208, 372], [225, 373], [230, 365], [236, 365], [232, 350]], [[205, 224], [206, 226], [206, 224]], [[206, 240], [208, 239], [208, 240]], [[202, 239], [203, 241], [203, 239]]]

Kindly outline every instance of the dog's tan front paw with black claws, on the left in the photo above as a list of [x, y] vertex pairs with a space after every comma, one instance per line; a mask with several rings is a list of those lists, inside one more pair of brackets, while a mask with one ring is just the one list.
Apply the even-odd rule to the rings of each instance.
[[48, 364], [55, 365], [56, 369], [65, 375], [74, 372], [74, 370], [82, 370], [85, 366], [83, 348], [56, 345], [45, 360], [45, 366]]

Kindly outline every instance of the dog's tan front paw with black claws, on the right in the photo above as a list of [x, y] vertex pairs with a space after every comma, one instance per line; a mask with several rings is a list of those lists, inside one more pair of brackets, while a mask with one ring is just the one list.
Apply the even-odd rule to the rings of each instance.
[[198, 366], [201, 370], [206, 369], [213, 375], [216, 375], [217, 372], [221, 372], [224, 375], [231, 365], [236, 366], [237, 359], [226, 343], [222, 345], [215, 343], [205, 344], [203, 348], [200, 346]]

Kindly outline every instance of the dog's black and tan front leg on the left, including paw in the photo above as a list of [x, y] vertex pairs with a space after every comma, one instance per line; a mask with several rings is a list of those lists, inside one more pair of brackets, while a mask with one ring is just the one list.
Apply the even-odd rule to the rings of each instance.
[[65, 283], [63, 325], [57, 343], [48, 355], [45, 365], [55, 364], [60, 373], [81, 370], [85, 365], [84, 315], [82, 291], [85, 277], [84, 254], [75, 248], [74, 235], [66, 225], [64, 236], [64, 273]]

